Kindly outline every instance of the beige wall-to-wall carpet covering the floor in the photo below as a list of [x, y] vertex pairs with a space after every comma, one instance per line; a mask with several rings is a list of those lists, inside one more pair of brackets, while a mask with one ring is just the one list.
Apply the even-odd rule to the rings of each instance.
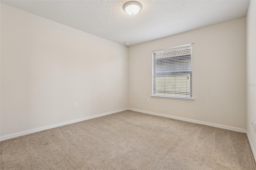
[[246, 134], [124, 111], [0, 142], [0, 169], [256, 170]]

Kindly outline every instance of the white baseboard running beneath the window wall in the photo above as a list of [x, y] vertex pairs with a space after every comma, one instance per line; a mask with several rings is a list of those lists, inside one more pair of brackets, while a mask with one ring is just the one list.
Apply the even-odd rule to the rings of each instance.
[[200, 125], [207, 125], [207, 126], [210, 126], [210, 127], [217, 127], [217, 128], [223, 128], [223, 129], [232, 130], [232, 131], [236, 131], [236, 132], [246, 133], [246, 129], [243, 129], [243, 128], [230, 127], [230, 126], [220, 125], [220, 124], [216, 124], [216, 123], [197, 121], [197, 120], [194, 120], [194, 119], [187, 119], [187, 118], [183, 118], [183, 117], [164, 115], [164, 114], [161, 114], [161, 113], [154, 113], [154, 112], [150, 112], [150, 111], [143, 111], [143, 110], [133, 109], [133, 108], [128, 108], [128, 109], [131, 110], [131, 111], [146, 113], [146, 114], [149, 114], [149, 115], [167, 117], [167, 118], [171, 118], [171, 119], [177, 119], [177, 120], [180, 120], [180, 121], [186, 121], [186, 122], [196, 123], [196, 124], [200, 124]]

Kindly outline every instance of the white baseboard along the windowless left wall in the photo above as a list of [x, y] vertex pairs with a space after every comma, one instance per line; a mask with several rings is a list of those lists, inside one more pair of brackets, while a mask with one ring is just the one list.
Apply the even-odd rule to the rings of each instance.
[[122, 111], [126, 111], [126, 110], [128, 110], [128, 109], [127, 108], [120, 109], [120, 110], [111, 111], [111, 112], [107, 112], [107, 113], [102, 113], [102, 114], [98, 114], [98, 115], [83, 117], [83, 118], [75, 119], [75, 120], [72, 120], [72, 121], [66, 121], [66, 122], [62, 122], [62, 123], [57, 123], [57, 124], [49, 125], [49, 126], [45, 126], [45, 127], [34, 128], [34, 129], [30, 129], [30, 130], [25, 130], [25, 131], [22, 131], [22, 132], [12, 133], [12, 134], [8, 134], [8, 135], [5, 135], [5, 136], [0, 136], [0, 141], [11, 139], [11, 138], [16, 138], [16, 137], [19, 137], [19, 136], [24, 136], [26, 134], [30, 134], [30, 133], [34, 133], [34, 132], [39, 132], [39, 131], [47, 130], [47, 129], [50, 129], [50, 128], [56, 128], [56, 127], [60, 127], [60, 126], [63, 126], [63, 125], [68, 125], [68, 124], [71, 124], [71, 123], [76, 123], [76, 122], [80, 122], [80, 121], [86, 121], [88, 119], [94, 119], [94, 118], [97, 118], [97, 117], [111, 115], [113, 113], [118, 113], [118, 112], [122, 112]]

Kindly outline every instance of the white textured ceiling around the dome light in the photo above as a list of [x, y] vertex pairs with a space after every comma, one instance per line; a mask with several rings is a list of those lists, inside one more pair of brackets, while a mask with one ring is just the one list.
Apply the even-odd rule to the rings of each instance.
[[78, 30], [130, 45], [172, 36], [246, 16], [248, 0], [136, 0], [142, 10], [130, 16], [129, 0], [1, 0]]

